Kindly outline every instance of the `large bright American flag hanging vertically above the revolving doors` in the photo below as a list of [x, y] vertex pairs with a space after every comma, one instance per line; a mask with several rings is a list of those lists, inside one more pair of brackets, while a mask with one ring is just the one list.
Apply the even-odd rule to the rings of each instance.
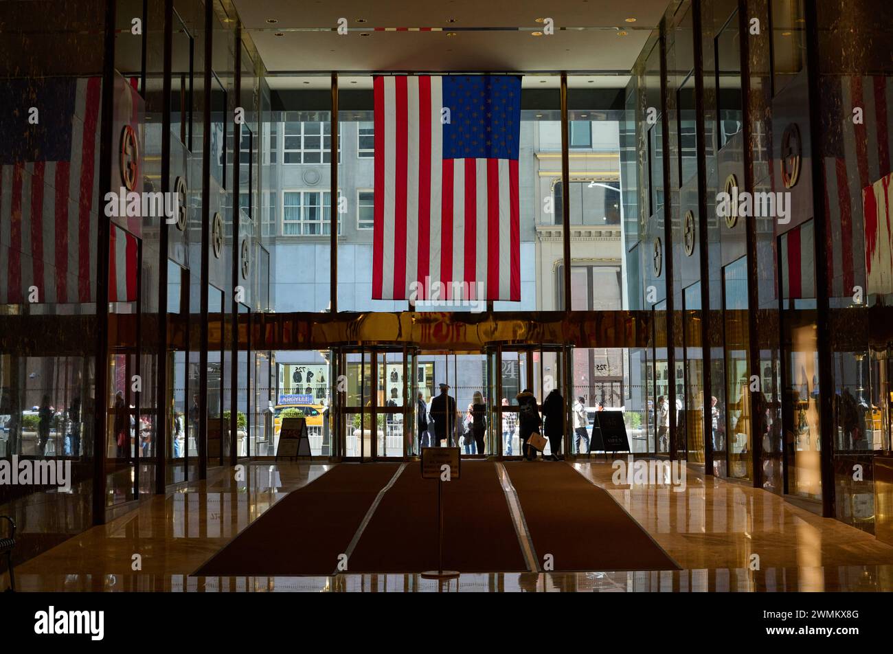
[[521, 300], [521, 78], [378, 76], [373, 299]]

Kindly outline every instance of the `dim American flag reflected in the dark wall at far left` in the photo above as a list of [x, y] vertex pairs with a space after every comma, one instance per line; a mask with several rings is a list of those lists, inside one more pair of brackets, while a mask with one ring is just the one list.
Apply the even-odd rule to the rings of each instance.
[[40, 303], [92, 302], [101, 81], [7, 80], [0, 88], [5, 98], [28, 98], [0, 120], [0, 304], [29, 301], [32, 286]]

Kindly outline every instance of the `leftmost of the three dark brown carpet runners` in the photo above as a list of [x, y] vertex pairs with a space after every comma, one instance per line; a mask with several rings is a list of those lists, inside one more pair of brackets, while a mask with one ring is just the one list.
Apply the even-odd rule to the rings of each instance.
[[194, 574], [332, 574], [397, 467], [336, 465], [280, 499]]

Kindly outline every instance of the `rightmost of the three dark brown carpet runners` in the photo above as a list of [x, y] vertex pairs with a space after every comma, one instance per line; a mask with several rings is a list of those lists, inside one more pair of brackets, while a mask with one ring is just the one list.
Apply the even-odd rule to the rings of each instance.
[[607, 491], [570, 465], [506, 463], [539, 565], [551, 554], [555, 572], [679, 570]]

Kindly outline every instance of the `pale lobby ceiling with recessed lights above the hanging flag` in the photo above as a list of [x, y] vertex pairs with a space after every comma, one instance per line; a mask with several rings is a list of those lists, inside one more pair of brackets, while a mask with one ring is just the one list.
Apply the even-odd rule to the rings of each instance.
[[[511, 11], [506, 11], [506, 3], [478, 0], [233, 2], [267, 70], [274, 75], [292, 73], [280, 86], [293, 86], [295, 73], [313, 71], [625, 74], [669, 4], [669, 0], [513, 0], [508, 4]], [[339, 18], [346, 18], [346, 35], [336, 31]], [[534, 36], [545, 26], [538, 18], [551, 18], [555, 34]], [[381, 30], [388, 28], [441, 31]], [[625, 35], [619, 36], [621, 31]]]

